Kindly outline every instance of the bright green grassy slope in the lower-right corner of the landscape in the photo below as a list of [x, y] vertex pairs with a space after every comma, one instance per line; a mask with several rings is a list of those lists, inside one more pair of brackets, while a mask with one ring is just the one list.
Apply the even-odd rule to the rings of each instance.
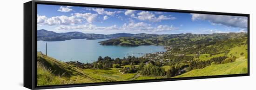
[[228, 64], [216, 64], [210, 65], [203, 69], [196, 69], [189, 72], [186, 72], [182, 75], [176, 77], [196, 77], [196, 76], [212, 76], [212, 75], [227, 75], [227, 74], [243, 74], [247, 73], [248, 69], [248, 59], [244, 58], [244, 55], [240, 55], [243, 52], [247, 54], [247, 45], [236, 46], [232, 48], [228, 54], [238, 57], [236, 62]]

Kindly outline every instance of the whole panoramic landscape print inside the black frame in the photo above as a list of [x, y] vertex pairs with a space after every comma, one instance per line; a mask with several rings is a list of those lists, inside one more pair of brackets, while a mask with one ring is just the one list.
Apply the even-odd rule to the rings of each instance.
[[247, 17], [37, 5], [37, 86], [247, 73]]

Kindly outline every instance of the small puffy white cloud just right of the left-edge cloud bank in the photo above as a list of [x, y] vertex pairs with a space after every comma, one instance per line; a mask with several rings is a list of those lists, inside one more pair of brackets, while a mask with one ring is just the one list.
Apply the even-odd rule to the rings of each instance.
[[77, 18], [86, 19], [88, 23], [92, 23], [98, 16], [98, 14], [93, 13], [74, 13], [74, 16]]

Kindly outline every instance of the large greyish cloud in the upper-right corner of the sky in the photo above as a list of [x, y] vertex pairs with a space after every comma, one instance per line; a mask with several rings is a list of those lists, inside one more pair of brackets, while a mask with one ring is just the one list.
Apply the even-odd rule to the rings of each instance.
[[247, 28], [247, 17], [242, 16], [228, 16], [228, 15], [209, 15], [209, 14], [193, 14], [192, 20], [207, 20], [213, 25], [224, 25], [232, 27]]

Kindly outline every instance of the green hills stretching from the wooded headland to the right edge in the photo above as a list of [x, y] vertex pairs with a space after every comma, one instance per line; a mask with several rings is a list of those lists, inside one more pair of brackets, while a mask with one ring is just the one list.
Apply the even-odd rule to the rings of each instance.
[[101, 45], [139, 46], [139, 45], [182, 45], [185, 43], [214, 44], [216, 40], [247, 37], [247, 33], [214, 33], [214, 34], [133, 34], [131, 37], [120, 37], [101, 41]]

